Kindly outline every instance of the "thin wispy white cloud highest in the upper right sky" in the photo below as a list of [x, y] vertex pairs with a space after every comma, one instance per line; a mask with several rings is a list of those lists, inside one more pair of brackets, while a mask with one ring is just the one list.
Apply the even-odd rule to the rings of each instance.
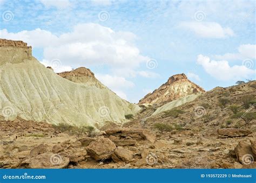
[[226, 38], [234, 36], [234, 32], [230, 27], [222, 27], [215, 22], [183, 22], [180, 26], [204, 38]]

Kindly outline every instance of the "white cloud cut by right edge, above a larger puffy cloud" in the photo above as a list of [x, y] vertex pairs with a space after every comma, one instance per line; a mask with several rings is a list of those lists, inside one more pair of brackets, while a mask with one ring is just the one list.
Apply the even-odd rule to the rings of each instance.
[[238, 47], [238, 53], [225, 53], [224, 55], [214, 55], [214, 58], [218, 60], [256, 59], [256, 45], [240, 45]]

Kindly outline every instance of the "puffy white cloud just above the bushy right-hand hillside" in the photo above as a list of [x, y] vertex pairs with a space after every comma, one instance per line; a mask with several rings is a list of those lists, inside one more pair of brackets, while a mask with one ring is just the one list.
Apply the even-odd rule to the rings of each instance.
[[197, 64], [203, 66], [208, 74], [221, 81], [248, 79], [255, 75], [255, 70], [244, 65], [231, 67], [226, 60], [214, 61], [201, 54], [198, 55]]

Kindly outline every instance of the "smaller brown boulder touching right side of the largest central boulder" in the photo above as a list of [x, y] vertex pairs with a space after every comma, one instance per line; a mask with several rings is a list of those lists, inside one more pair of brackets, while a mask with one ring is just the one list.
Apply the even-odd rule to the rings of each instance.
[[133, 159], [133, 153], [130, 150], [124, 149], [123, 147], [118, 146], [116, 150], [114, 150], [114, 153], [112, 154], [112, 159], [114, 163], [117, 163], [118, 161], [130, 161]]

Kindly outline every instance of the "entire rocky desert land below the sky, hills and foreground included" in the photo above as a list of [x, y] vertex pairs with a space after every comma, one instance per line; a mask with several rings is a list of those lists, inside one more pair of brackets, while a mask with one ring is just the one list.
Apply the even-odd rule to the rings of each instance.
[[204, 91], [178, 74], [136, 105], [16, 42], [0, 42], [0, 168], [256, 168], [256, 81]]

